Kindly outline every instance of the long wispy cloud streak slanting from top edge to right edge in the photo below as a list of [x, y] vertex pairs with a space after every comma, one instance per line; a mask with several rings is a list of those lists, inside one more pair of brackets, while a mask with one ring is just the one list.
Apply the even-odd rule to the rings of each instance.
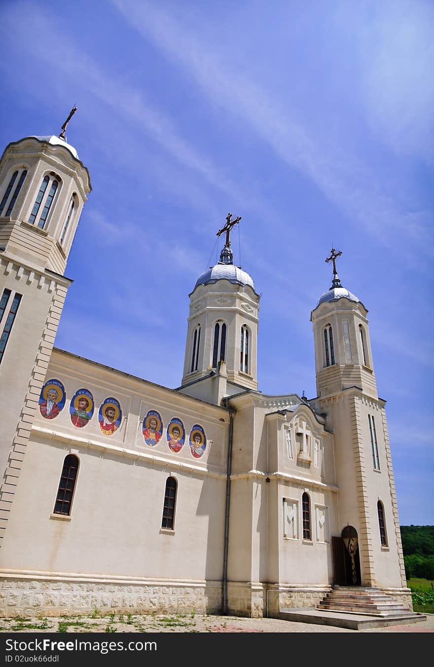
[[[425, 211], [397, 205], [399, 191], [380, 187], [371, 165], [336, 143], [335, 136], [319, 135], [297, 117], [294, 107], [271, 97], [245, 74], [237, 72], [231, 53], [207, 39], [161, 5], [145, 0], [111, 0], [147, 40], [201, 87], [212, 105], [248, 123], [288, 165], [309, 177], [349, 220], [394, 250], [394, 231], [412, 237], [423, 253], [430, 253]], [[415, 265], [413, 257], [406, 257]], [[420, 265], [419, 265], [420, 269]]]

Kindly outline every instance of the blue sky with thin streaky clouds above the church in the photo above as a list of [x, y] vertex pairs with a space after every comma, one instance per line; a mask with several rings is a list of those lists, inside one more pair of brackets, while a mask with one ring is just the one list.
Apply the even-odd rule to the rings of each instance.
[[[259, 388], [316, 395], [309, 321], [339, 276], [369, 309], [401, 524], [434, 524], [434, 5], [7, 1], [3, 146], [67, 137], [89, 168], [56, 345], [179, 386], [188, 294], [241, 215]], [[211, 260], [210, 260], [211, 257]]]

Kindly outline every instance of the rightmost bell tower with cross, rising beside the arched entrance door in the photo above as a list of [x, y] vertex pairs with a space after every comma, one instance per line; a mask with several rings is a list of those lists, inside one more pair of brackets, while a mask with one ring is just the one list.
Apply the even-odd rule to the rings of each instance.
[[385, 401], [377, 394], [365, 305], [333, 280], [313, 311], [317, 398], [333, 430], [339, 536], [357, 532], [361, 584], [407, 590]]

